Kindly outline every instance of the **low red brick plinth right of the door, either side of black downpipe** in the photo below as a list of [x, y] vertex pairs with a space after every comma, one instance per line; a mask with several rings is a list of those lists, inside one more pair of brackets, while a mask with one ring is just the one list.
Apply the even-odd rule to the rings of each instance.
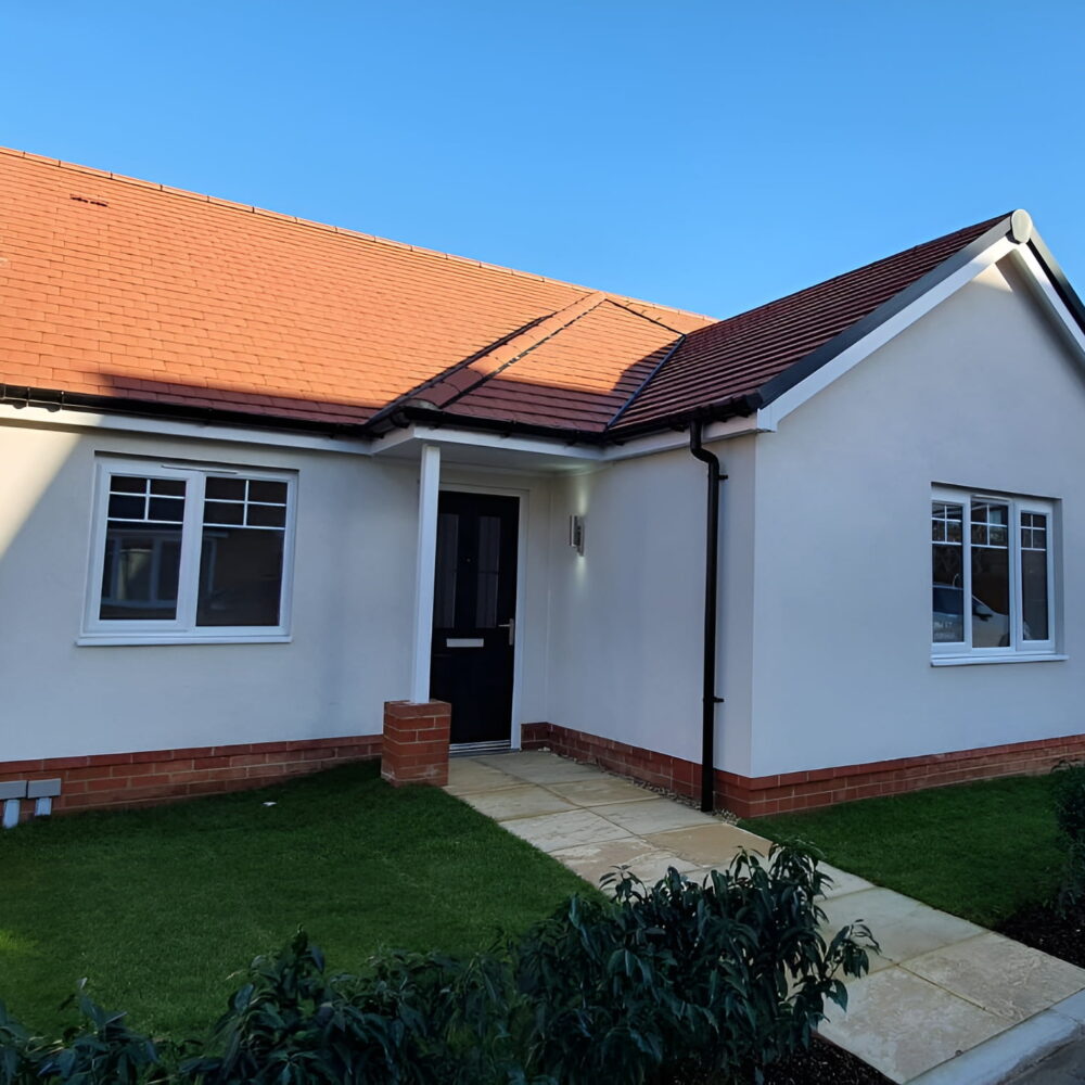
[[[525, 750], [546, 746], [574, 761], [589, 762], [690, 799], [700, 795], [701, 766], [694, 762], [557, 724], [525, 724], [522, 736]], [[969, 780], [1032, 776], [1049, 771], [1060, 761], [1082, 757], [1085, 735], [1070, 735], [777, 776], [748, 777], [717, 769], [715, 794], [720, 806], [740, 817], [761, 817]]]

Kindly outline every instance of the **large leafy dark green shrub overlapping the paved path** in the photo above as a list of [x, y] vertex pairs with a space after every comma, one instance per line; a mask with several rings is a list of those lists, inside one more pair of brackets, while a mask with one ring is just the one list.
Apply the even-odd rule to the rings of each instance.
[[774, 846], [767, 866], [741, 853], [703, 884], [624, 873], [613, 904], [574, 898], [514, 958], [533, 1063], [566, 1085], [726, 1077], [808, 1045], [826, 998], [846, 1008], [838, 974], [860, 975], [877, 948], [865, 927], [826, 944], [825, 883], [810, 852]]

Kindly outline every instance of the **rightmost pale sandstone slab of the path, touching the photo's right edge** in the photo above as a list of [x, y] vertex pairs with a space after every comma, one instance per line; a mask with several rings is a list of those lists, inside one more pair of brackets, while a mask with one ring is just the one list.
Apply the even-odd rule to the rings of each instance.
[[1085, 970], [993, 933], [914, 957], [904, 967], [1013, 1022], [1085, 988]]

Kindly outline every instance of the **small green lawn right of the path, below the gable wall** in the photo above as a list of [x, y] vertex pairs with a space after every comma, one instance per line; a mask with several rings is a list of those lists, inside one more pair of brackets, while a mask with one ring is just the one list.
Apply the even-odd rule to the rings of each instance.
[[963, 783], [742, 825], [774, 840], [801, 837], [843, 870], [991, 927], [1055, 889], [1052, 782]]

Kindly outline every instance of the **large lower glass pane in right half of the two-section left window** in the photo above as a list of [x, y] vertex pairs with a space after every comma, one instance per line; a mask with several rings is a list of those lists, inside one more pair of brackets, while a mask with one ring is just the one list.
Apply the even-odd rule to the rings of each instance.
[[196, 625], [279, 624], [285, 533], [204, 527]]

